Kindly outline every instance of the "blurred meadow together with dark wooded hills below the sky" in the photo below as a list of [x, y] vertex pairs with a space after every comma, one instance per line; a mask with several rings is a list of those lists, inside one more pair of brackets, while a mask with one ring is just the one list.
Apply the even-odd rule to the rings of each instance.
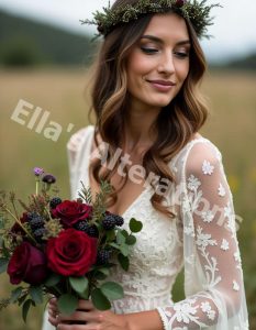
[[[35, 189], [32, 169], [40, 166], [57, 176], [60, 195], [67, 198], [69, 176], [66, 143], [73, 133], [89, 123], [90, 77], [87, 63], [94, 51], [88, 51], [84, 56], [85, 50], [88, 50], [84, 37], [64, 36], [59, 31], [12, 19], [0, 12], [0, 190], [15, 190], [19, 198], [25, 199]], [[231, 63], [225, 68], [209, 69], [202, 91], [208, 98], [211, 113], [201, 131], [223, 154], [235, 211], [243, 218], [237, 235], [251, 329], [256, 329], [255, 58], [253, 55], [244, 62]], [[21, 99], [33, 105], [33, 109], [43, 109], [32, 129], [27, 124], [33, 110], [27, 117], [20, 116], [24, 124], [11, 119]], [[49, 112], [49, 118], [43, 131], [36, 133], [45, 111]], [[56, 142], [44, 135], [51, 121], [63, 128]], [[67, 132], [70, 123], [74, 128]], [[0, 298], [8, 297], [11, 289], [7, 276], [0, 275]], [[178, 301], [182, 297], [181, 274], [174, 288], [174, 299]], [[0, 329], [40, 330], [42, 315], [43, 307], [36, 307], [24, 324], [21, 310], [10, 306], [0, 311]]]

